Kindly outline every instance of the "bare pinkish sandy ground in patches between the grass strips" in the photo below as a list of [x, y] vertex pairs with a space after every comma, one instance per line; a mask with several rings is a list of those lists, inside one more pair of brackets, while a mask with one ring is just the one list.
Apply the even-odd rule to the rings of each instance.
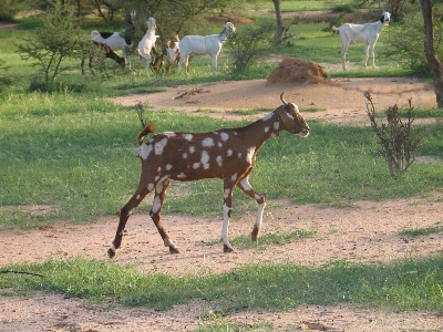
[[[265, 80], [222, 82], [171, 86], [164, 93], [119, 97], [114, 102], [125, 105], [142, 102], [154, 111], [171, 108], [196, 115], [239, 118], [240, 115], [234, 115], [230, 111], [256, 107], [272, 110], [280, 104], [282, 91], [288, 102], [295, 102], [301, 108], [320, 110], [303, 112], [308, 122], [319, 118], [338, 125], [369, 125], [363, 97], [365, 91], [372, 93], [380, 110], [394, 103], [405, 105], [409, 97], [412, 97], [415, 107], [435, 106], [432, 87], [414, 79], [352, 79], [307, 86], [269, 85]], [[205, 113], [202, 110], [216, 112]], [[222, 252], [222, 243], [207, 245], [207, 241], [218, 239], [222, 217], [164, 216], [165, 227], [181, 249], [179, 255], [171, 256], [148, 216], [135, 214], [130, 219], [128, 232], [115, 262], [133, 263], [145, 273], [162, 271], [182, 276], [220, 273], [246, 263], [264, 261], [320, 264], [347, 259], [378, 263], [440, 255], [443, 234], [412, 238], [399, 232], [441, 225], [441, 198], [442, 193], [433, 193], [427, 197], [402, 200], [357, 201], [346, 208], [269, 203], [274, 208], [265, 210], [264, 234], [306, 229], [316, 231], [317, 236], [285, 246], [269, 246], [260, 251], [235, 248], [235, 252], [228, 255]], [[35, 212], [44, 212], [50, 207], [33, 208]], [[234, 209], [230, 237], [248, 235], [255, 214], [253, 210], [238, 216]], [[106, 250], [116, 225], [117, 218], [110, 217], [90, 225], [59, 222], [44, 230], [0, 232], [0, 267], [78, 255], [106, 260]], [[198, 301], [157, 312], [144, 308], [89, 307], [81, 299], [65, 299], [58, 294], [1, 297], [0, 331], [193, 331], [213, 322], [207, 318], [209, 310], [208, 303]], [[302, 305], [285, 312], [239, 312], [224, 319], [247, 324], [270, 322], [274, 331], [443, 331], [443, 317], [436, 312], [398, 313], [390, 310], [361, 310], [351, 304]]]

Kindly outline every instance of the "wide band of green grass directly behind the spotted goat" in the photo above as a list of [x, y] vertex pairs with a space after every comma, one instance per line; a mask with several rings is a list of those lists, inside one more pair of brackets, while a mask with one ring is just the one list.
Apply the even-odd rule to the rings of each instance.
[[[173, 111], [148, 112], [148, 117], [158, 132], [246, 124]], [[11, 95], [0, 120], [0, 229], [37, 228], [60, 219], [94, 220], [115, 214], [135, 190], [141, 163], [135, 158], [140, 123], [133, 107], [71, 93], [31, 93]], [[269, 201], [342, 205], [422, 195], [443, 186], [440, 165], [416, 163], [405, 176], [391, 178], [371, 128], [315, 121], [310, 126], [308, 138], [282, 133], [258, 153], [251, 184]], [[443, 158], [441, 132], [426, 137], [422, 151]], [[220, 188], [219, 179], [174, 183], [164, 211], [218, 216]], [[34, 216], [25, 208], [30, 205], [50, 206], [51, 212]], [[151, 201], [140, 211], [150, 206]], [[235, 193], [235, 214], [255, 206], [249, 197]]]

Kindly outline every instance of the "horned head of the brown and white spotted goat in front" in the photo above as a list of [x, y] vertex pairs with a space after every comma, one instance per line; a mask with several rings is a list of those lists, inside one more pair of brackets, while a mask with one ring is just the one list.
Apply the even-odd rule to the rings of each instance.
[[280, 100], [284, 102], [284, 105], [277, 107], [275, 112], [280, 116], [285, 129], [291, 134], [307, 137], [309, 135], [309, 126], [301, 116], [298, 106], [293, 103], [287, 103], [284, 100], [284, 92], [280, 94]]

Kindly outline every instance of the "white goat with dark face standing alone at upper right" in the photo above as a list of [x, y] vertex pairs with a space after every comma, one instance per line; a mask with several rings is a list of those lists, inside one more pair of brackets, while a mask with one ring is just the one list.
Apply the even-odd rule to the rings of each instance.
[[338, 31], [341, 39], [341, 63], [343, 70], [346, 70], [346, 53], [350, 44], [365, 43], [365, 55], [364, 66], [368, 68], [369, 51], [372, 54], [372, 66], [375, 68], [375, 54], [374, 48], [377, 40], [379, 39], [380, 32], [384, 25], [388, 25], [391, 20], [389, 12], [383, 12], [380, 20], [374, 23], [365, 24], [350, 24], [344, 23], [343, 25], [336, 28], [332, 27], [332, 31]]

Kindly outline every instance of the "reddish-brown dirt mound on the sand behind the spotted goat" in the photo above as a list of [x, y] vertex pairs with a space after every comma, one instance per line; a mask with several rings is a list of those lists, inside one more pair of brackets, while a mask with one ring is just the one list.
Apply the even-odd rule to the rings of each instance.
[[286, 58], [272, 71], [268, 83], [321, 84], [330, 81], [328, 73], [316, 62]]

